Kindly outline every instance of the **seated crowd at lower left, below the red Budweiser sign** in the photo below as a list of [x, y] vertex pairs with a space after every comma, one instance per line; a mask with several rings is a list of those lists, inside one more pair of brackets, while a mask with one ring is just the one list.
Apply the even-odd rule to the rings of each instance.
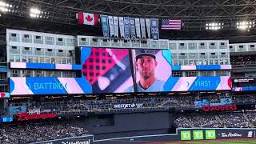
[[0, 143], [22, 144], [89, 134], [88, 130], [70, 122], [42, 122], [1, 126]]

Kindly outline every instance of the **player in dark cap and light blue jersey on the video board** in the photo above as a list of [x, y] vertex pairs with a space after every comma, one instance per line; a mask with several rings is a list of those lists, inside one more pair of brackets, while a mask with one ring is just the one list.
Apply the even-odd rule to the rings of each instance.
[[[158, 62], [155, 58], [154, 50], [137, 50], [138, 54], [135, 57], [136, 70], [140, 75], [139, 82], [136, 84], [137, 91], [135, 92], [154, 92], [163, 91], [165, 82], [155, 78], [155, 68]], [[126, 92], [133, 92], [134, 86], [129, 87]]]

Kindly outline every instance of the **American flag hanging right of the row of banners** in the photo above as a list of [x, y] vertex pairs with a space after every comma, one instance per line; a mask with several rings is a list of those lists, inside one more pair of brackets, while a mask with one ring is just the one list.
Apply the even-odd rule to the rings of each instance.
[[162, 19], [162, 30], [181, 30], [182, 20]]

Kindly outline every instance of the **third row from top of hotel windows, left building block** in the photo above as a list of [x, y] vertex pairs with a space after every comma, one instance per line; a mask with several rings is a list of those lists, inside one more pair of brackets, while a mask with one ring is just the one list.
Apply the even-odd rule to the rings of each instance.
[[52, 58], [36, 56], [10, 55], [10, 62], [35, 62], [35, 63], [52, 63], [52, 64], [75, 64], [74, 58]]

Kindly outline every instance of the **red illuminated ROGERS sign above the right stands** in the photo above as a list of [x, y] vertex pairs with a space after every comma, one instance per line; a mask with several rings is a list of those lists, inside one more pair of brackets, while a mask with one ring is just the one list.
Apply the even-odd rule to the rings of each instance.
[[230, 110], [237, 110], [237, 105], [218, 105], [218, 106], [208, 106], [204, 105], [202, 106], [202, 110], [205, 112], [209, 111], [230, 111]]

